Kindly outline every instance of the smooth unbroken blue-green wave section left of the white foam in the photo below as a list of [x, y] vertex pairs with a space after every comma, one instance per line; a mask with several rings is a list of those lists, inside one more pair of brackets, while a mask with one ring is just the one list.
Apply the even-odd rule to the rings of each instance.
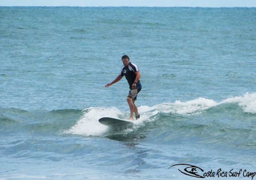
[[0, 108], [0, 125], [5, 133], [59, 134], [73, 126], [81, 115], [81, 110], [75, 109], [26, 111]]

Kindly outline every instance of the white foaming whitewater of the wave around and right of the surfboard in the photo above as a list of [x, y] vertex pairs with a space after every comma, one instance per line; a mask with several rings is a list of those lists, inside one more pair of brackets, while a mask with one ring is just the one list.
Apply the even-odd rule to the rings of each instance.
[[[150, 126], [147, 124], [152, 124], [154, 121], [157, 121], [155, 128], [159, 128], [160, 125], [166, 125], [162, 123], [168, 124], [170, 122], [169, 119], [186, 119], [189, 116], [200, 114], [209, 116], [212, 112], [225, 114], [229, 111], [230, 113], [235, 113], [241, 110], [241, 116], [243, 116], [244, 113], [249, 113], [253, 118], [256, 113], [256, 93], [246, 93], [240, 97], [229, 97], [220, 102], [200, 97], [186, 102], [177, 100], [174, 103], [162, 103], [153, 107], [140, 106], [138, 109], [141, 114], [140, 121], [135, 121], [136, 124], [132, 128], [122, 132], [114, 132], [114, 134], [129, 134]], [[129, 112], [121, 112], [117, 108], [90, 107], [83, 110], [83, 115], [76, 124], [69, 128], [69, 130], [64, 131], [64, 133], [83, 136], [113, 135], [113, 132], [110, 133], [107, 126], [99, 124], [98, 119], [101, 117], [127, 118], [128, 116]], [[168, 119], [167, 122], [164, 121], [165, 116]], [[191, 124], [189, 124], [189, 126], [190, 125]], [[208, 127], [208, 125], [206, 126]], [[201, 127], [202, 125], [199, 124], [199, 128]], [[189, 127], [187, 128], [189, 129]]]

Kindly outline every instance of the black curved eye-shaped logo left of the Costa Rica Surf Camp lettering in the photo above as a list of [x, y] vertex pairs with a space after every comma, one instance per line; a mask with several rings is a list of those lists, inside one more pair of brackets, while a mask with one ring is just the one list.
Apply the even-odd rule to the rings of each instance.
[[173, 166], [170, 166], [168, 169], [170, 169], [174, 166], [180, 167], [180, 168], [178, 168], [178, 170], [185, 175], [189, 175], [192, 177], [198, 177], [198, 178], [205, 178], [204, 176], [199, 174], [200, 172], [204, 172], [204, 170], [200, 167], [190, 165], [190, 164], [175, 164]]

